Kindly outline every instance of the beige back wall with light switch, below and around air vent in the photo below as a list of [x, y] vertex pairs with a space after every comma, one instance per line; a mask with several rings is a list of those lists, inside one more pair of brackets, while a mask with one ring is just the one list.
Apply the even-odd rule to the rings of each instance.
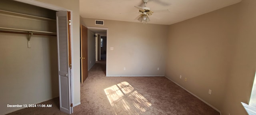
[[94, 21], [83, 18], [84, 26], [108, 28], [107, 76], [164, 75], [168, 26], [113, 20], [98, 26]]

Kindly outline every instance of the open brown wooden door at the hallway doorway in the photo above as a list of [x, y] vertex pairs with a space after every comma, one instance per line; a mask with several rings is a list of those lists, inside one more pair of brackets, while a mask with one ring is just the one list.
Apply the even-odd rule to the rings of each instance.
[[80, 44], [81, 44], [81, 83], [84, 83], [88, 77], [88, 29], [81, 25], [80, 27]]

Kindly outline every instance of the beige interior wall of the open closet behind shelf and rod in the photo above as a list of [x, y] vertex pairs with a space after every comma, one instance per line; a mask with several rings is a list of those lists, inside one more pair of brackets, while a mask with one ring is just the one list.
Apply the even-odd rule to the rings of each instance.
[[[12, 0], [0, 10], [50, 18], [40, 20], [0, 13], [0, 27], [56, 32], [55, 11]], [[0, 33], [0, 115], [22, 109], [7, 105], [37, 104], [59, 96], [56, 36]], [[58, 103], [56, 103], [58, 104]]]

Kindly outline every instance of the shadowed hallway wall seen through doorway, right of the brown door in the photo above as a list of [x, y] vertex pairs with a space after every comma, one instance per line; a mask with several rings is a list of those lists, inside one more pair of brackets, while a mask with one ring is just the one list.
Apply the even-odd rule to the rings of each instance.
[[95, 33], [88, 30], [88, 71], [96, 62], [95, 52]]

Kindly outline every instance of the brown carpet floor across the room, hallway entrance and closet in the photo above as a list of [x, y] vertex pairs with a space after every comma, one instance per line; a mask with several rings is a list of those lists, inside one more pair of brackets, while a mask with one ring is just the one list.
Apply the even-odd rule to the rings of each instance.
[[[8, 115], [67, 115], [58, 98]], [[73, 115], [220, 115], [166, 77], [106, 77], [106, 61], [88, 71], [81, 84], [81, 104]]]

